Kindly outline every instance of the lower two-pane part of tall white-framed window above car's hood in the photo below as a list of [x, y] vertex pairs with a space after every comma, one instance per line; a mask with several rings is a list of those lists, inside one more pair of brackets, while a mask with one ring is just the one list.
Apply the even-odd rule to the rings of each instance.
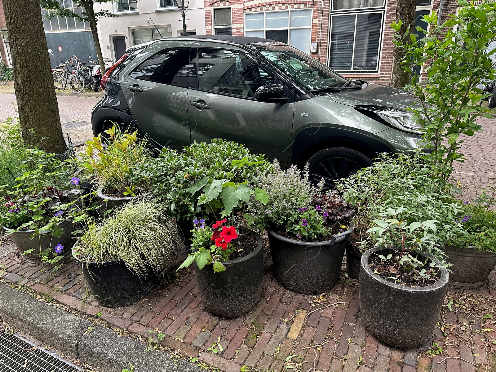
[[336, 71], [377, 71], [382, 12], [332, 15], [329, 67]]

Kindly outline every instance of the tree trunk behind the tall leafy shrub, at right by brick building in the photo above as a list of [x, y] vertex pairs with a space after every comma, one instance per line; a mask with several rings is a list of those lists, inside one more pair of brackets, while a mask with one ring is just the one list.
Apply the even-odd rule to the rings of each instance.
[[[410, 33], [415, 33], [415, 8], [417, 7], [416, 0], [398, 0], [396, 4], [396, 22], [401, 20], [403, 23], [400, 28], [400, 35], [404, 35], [408, 26]], [[407, 36], [406, 42], [410, 36]], [[400, 60], [405, 57], [403, 50], [397, 46], [393, 49], [393, 70], [391, 72], [390, 85], [395, 88], [403, 88], [411, 83], [411, 76], [408, 72], [401, 68]]]

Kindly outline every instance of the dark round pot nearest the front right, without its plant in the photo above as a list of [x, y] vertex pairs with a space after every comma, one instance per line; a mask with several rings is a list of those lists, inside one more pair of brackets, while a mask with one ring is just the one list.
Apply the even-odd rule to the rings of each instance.
[[[395, 347], [417, 347], [434, 331], [448, 287], [448, 270], [438, 268], [439, 280], [426, 287], [391, 283], [374, 274], [369, 264], [374, 254], [392, 250], [372, 248], [362, 256], [360, 268], [360, 319], [380, 341]], [[393, 253], [394, 254], [394, 253]], [[425, 254], [424, 258], [439, 261]]]

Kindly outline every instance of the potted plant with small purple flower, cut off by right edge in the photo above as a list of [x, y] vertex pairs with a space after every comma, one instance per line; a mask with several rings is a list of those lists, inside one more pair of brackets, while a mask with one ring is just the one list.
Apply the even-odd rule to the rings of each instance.
[[475, 203], [463, 202], [464, 213], [455, 221], [463, 231], [444, 247], [452, 264], [449, 280], [453, 288], [479, 288], [496, 265], [496, 212], [489, 209], [493, 203], [486, 193]]

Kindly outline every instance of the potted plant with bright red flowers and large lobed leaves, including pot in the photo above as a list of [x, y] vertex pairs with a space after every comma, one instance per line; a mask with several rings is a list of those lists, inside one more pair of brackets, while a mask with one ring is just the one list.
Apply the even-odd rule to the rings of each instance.
[[265, 203], [267, 195], [245, 183], [206, 177], [188, 191], [195, 194], [201, 188], [203, 193], [198, 203], [207, 206], [207, 214], [218, 213], [225, 218], [211, 227], [205, 219], [193, 221], [192, 252], [178, 270], [194, 262], [198, 291], [205, 307], [219, 316], [239, 316], [256, 305], [263, 281], [262, 238], [246, 227], [246, 219], [251, 218], [244, 213], [246, 203], [250, 198]]

